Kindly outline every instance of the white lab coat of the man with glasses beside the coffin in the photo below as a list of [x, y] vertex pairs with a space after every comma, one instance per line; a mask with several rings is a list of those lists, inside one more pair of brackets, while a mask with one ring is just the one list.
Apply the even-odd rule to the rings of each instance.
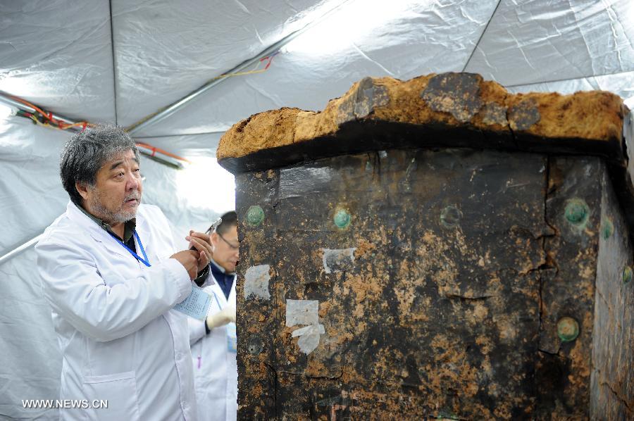
[[[211, 272], [209, 277], [213, 278]], [[218, 313], [225, 306], [235, 307], [235, 277], [229, 299], [225, 298], [215, 279], [204, 290], [215, 296], [211, 299], [209, 314]], [[192, 344], [198, 419], [234, 421], [237, 414], [237, 363], [236, 353], [228, 349], [227, 326], [215, 327], [206, 334], [204, 321], [192, 318], [187, 321]]]

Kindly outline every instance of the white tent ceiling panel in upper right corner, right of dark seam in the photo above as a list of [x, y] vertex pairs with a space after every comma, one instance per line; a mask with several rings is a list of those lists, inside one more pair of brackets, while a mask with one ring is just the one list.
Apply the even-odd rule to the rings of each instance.
[[634, 70], [634, 2], [502, 1], [466, 70], [504, 85]]

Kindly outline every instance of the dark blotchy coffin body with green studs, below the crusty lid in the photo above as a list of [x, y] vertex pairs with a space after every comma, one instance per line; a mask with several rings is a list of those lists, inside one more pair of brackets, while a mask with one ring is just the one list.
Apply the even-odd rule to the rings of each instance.
[[[593, 327], [606, 173], [599, 158], [454, 149], [237, 175], [240, 417], [630, 414], [631, 329], [608, 350]], [[601, 323], [631, 327], [616, 306]], [[562, 318], [578, 337], [561, 339]]]

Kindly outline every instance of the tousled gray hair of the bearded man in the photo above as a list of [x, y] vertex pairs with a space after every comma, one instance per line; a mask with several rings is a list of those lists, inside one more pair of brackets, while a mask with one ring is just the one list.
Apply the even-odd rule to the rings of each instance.
[[121, 127], [99, 124], [73, 134], [59, 160], [59, 175], [70, 200], [81, 206], [82, 196], [75, 188], [75, 182], [94, 187], [99, 168], [119, 153], [130, 150], [139, 161], [135, 141]]

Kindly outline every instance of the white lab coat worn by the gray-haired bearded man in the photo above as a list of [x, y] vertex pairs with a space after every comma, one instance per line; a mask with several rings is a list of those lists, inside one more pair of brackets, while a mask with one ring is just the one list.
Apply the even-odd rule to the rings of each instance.
[[108, 401], [60, 409], [62, 420], [197, 419], [187, 316], [170, 310], [192, 283], [169, 258], [159, 208], [139, 206], [136, 230], [150, 268], [73, 203], [35, 248], [63, 356], [60, 398]]

